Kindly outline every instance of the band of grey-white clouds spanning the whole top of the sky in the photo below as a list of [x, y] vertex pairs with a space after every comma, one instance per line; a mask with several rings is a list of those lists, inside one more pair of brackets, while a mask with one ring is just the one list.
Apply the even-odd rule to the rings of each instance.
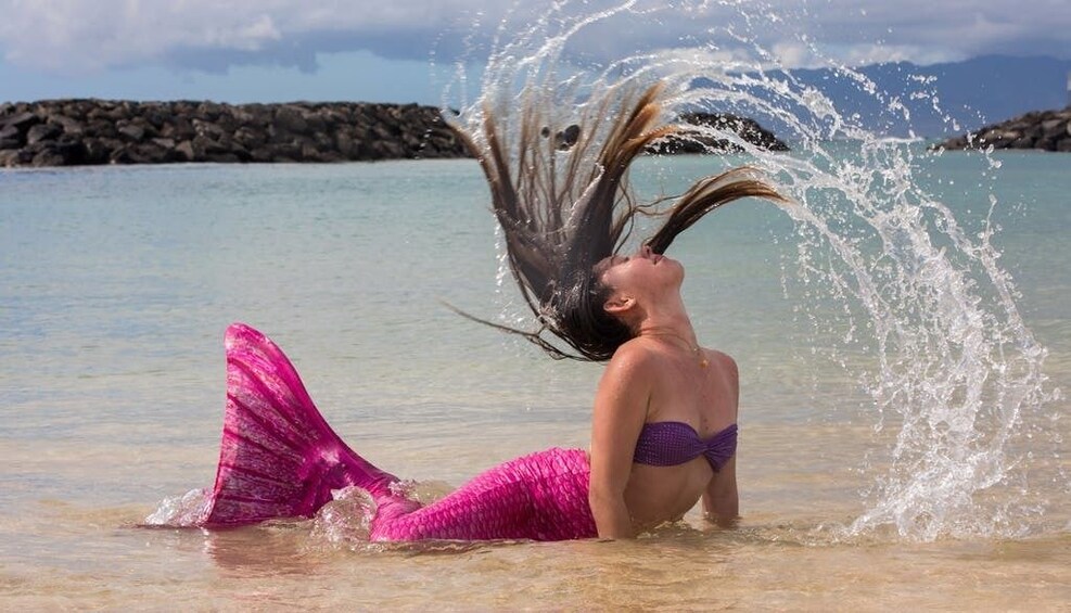
[[[1071, 56], [1067, 0], [637, 0], [571, 50], [607, 61], [648, 49], [712, 56], [766, 50], [788, 66], [930, 63], [983, 53]], [[550, 2], [500, 0], [0, 0], [5, 62], [55, 74], [146, 65], [225, 73], [235, 65], [317, 69], [323, 53], [452, 62], [486, 49], [506, 20], [558, 17]], [[603, 0], [566, 4], [594, 11]], [[553, 25], [551, 23], [551, 25]], [[512, 27], [520, 27], [514, 25]], [[476, 51], [473, 51], [476, 50]]]

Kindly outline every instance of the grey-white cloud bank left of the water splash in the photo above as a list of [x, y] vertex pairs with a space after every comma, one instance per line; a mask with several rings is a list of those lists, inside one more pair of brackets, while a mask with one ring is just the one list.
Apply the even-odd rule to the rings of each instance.
[[[50, 72], [227, 63], [307, 67], [316, 53], [369, 50], [426, 60], [482, 0], [3, 0], [7, 62]], [[471, 18], [471, 17], [470, 17]], [[213, 54], [218, 58], [208, 60]]]

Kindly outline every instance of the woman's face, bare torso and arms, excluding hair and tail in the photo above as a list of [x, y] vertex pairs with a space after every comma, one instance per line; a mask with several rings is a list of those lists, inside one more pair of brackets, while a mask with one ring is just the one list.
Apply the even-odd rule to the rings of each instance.
[[643, 246], [596, 268], [604, 309], [629, 341], [595, 398], [589, 502], [600, 537], [677, 520], [702, 495], [707, 518], [737, 516], [737, 368], [704, 349], [680, 299], [684, 267]]

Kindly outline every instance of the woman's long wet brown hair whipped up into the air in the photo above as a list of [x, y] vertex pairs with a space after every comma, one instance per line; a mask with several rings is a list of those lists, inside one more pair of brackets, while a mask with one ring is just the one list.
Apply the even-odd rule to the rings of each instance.
[[538, 104], [521, 105], [519, 125], [502, 125], [513, 117], [496, 118], [487, 107], [477, 129], [454, 125], [486, 175], [510, 271], [538, 328], [525, 331], [458, 312], [520, 334], [554, 358], [608, 360], [634, 332], [605, 311], [613, 290], [596, 265], [623, 246], [637, 215], [663, 219], [645, 241], [661, 254], [723, 204], [745, 196], [782, 200], [752, 168], [740, 167], [700, 179], [667, 210], [654, 209], [665, 199], [637, 203], [629, 165], [652, 142], [678, 131], [660, 124], [661, 91], [655, 85], [638, 93], [608, 92], [588, 101], [581, 120], [565, 130], [552, 129], [553, 112]]

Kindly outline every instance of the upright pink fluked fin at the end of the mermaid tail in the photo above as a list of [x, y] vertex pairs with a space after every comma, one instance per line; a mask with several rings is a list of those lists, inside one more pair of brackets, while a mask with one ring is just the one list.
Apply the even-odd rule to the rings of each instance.
[[331, 490], [374, 498], [397, 480], [346, 446], [317, 410], [282, 350], [242, 323], [227, 329], [227, 408], [219, 468], [200, 525], [311, 516]]

